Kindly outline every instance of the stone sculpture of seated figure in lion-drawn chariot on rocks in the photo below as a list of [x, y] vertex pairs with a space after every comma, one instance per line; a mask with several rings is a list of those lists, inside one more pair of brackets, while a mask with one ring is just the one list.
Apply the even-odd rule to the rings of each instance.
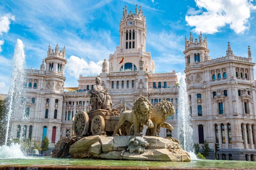
[[[79, 112], [74, 118], [73, 130], [81, 133], [78, 136], [58, 141], [53, 157], [151, 161], [191, 160], [189, 153], [181, 148], [177, 139], [158, 137], [160, 127], [173, 130], [172, 125], [166, 122], [167, 117], [175, 112], [172, 102], [163, 100], [153, 108], [148, 99], [141, 96], [134, 102], [132, 111], [124, 111], [119, 115], [116, 110], [111, 109], [110, 95], [100, 83], [101, 79], [96, 78], [96, 85], [93, 85], [93, 89], [88, 92], [93, 104], [92, 110], [88, 112], [89, 116], [85, 112]], [[117, 121], [117, 125], [114, 126]], [[107, 128], [105, 122], [113, 126], [109, 125]], [[91, 132], [88, 130], [89, 124]], [[144, 125], [147, 126], [146, 136], [142, 135]], [[99, 130], [93, 130], [95, 128]], [[122, 136], [120, 129], [123, 128], [125, 128], [126, 136]], [[107, 136], [106, 134], [110, 134], [111, 131], [113, 136]], [[91, 133], [92, 136], [90, 136]]]

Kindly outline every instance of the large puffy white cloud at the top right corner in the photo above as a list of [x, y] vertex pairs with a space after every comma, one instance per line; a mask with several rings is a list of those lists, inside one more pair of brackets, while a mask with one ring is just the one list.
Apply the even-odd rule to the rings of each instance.
[[199, 9], [205, 9], [202, 14], [186, 16], [189, 26], [196, 33], [214, 34], [219, 28], [229, 25], [230, 29], [243, 33], [249, 28], [250, 12], [256, 8], [251, 0], [195, 0]]

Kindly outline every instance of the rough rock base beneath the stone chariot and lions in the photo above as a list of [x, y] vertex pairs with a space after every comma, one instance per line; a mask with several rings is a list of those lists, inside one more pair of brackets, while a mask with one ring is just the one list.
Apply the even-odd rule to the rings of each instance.
[[[191, 161], [189, 153], [183, 150], [180, 143], [172, 137], [161, 138], [155, 136], [141, 136], [144, 142], [147, 142], [145, 148], [140, 153], [128, 149], [128, 144], [136, 136], [87, 136], [77, 140], [72, 145], [66, 144], [65, 154], [56, 154], [67, 156], [67, 147], [69, 147], [69, 156], [72, 158], [94, 158], [94, 159], [125, 159], [125, 160], [143, 160], [143, 161]], [[62, 139], [64, 140], [64, 139]], [[73, 142], [74, 140], [72, 140]], [[65, 143], [67, 139], [65, 139]], [[57, 144], [63, 144], [59, 141]], [[68, 142], [71, 144], [71, 142]], [[134, 146], [133, 146], [134, 147]], [[134, 148], [140, 147], [135, 145]], [[58, 152], [62, 151], [61, 146]], [[64, 151], [63, 150], [63, 151]]]

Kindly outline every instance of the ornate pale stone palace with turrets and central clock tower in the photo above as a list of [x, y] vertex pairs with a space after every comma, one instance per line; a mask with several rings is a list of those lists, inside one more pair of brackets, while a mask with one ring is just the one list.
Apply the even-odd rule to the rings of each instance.
[[[168, 117], [174, 130], [161, 128], [160, 136], [177, 138], [178, 93], [175, 71], [158, 73], [151, 52], [146, 51], [146, 19], [141, 7], [135, 13], [123, 8], [119, 24], [119, 46], [104, 59], [102, 86], [111, 95], [112, 108], [131, 110], [134, 101], [146, 96], [154, 105], [163, 99], [175, 107]], [[150, 34], [150, 33], [149, 33]], [[248, 57], [233, 54], [228, 43], [224, 57], [210, 59], [207, 38], [185, 38], [185, 74], [194, 130], [194, 142], [209, 142], [214, 156], [215, 143], [219, 144], [219, 159], [254, 160], [256, 153], [256, 93], [250, 46]], [[87, 91], [95, 84], [96, 76], [79, 76], [78, 87], [64, 88], [66, 65], [65, 47], [60, 51], [49, 45], [47, 57], [40, 69], [26, 69], [24, 88], [25, 115], [12, 121], [12, 138], [30, 138], [41, 142], [44, 136], [49, 147], [62, 137], [72, 135], [72, 118], [78, 111], [90, 110]], [[66, 90], [65, 90], [66, 89]], [[144, 130], [145, 131], [145, 130]]]

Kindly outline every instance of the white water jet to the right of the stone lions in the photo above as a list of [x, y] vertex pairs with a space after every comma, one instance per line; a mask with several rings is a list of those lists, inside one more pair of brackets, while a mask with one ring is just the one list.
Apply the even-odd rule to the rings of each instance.
[[179, 99], [178, 99], [178, 140], [181, 147], [193, 152], [193, 129], [189, 111], [189, 99], [186, 91], [185, 75], [180, 78]]

